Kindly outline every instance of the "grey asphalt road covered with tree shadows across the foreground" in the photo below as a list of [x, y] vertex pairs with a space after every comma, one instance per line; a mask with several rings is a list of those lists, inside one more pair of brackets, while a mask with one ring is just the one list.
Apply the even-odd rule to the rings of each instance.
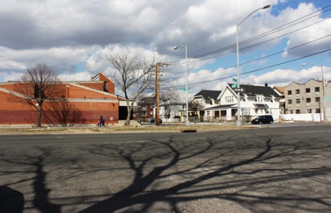
[[331, 212], [331, 125], [0, 137], [0, 212]]

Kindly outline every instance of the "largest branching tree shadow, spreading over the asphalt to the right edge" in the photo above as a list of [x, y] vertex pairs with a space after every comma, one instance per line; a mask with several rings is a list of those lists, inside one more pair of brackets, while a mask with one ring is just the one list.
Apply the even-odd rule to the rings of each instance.
[[[134, 146], [95, 147], [89, 150], [92, 155], [120, 160], [134, 175], [111, 198], [80, 213], [217, 212], [222, 201], [235, 202], [251, 212], [288, 212], [291, 208], [327, 212], [330, 195], [312, 191], [309, 183], [330, 175], [331, 167], [304, 167], [307, 157], [321, 150], [308, 142], [265, 137], [250, 143], [241, 137], [218, 136], [192, 143], [169, 138]], [[330, 146], [325, 148], [330, 150]], [[109, 172], [112, 169], [116, 168]], [[330, 189], [329, 181], [318, 186]], [[211, 202], [216, 207], [209, 206]]]

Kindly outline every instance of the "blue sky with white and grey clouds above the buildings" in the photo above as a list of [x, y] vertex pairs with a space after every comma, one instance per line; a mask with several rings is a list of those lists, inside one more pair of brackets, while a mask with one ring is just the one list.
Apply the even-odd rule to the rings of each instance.
[[180, 89], [185, 48], [173, 46], [181, 45], [187, 46], [189, 91], [220, 90], [237, 75], [240, 22], [242, 84], [321, 78], [320, 67], [302, 63], [323, 65], [331, 79], [330, 17], [331, 3], [322, 0], [2, 0], [0, 82], [38, 63], [63, 81], [88, 80], [98, 72], [111, 75], [105, 59], [111, 52], [146, 60], [156, 52], [171, 63], [163, 72], [165, 87]]

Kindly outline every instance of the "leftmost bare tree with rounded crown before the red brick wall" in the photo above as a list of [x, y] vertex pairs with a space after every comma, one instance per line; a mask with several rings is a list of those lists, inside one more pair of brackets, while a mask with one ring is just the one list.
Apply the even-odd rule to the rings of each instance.
[[42, 104], [61, 96], [61, 81], [53, 70], [44, 64], [27, 69], [27, 72], [18, 80], [13, 90], [21, 93], [24, 98], [15, 98], [16, 101], [32, 105], [38, 112], [37, 127], [42, 126]]

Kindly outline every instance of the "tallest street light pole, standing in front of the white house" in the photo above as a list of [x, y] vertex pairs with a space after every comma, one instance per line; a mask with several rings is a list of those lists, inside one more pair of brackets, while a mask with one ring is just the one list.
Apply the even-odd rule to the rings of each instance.
[[[266, 6], [263, 6], [261, 8], [256, 9], [255, 11], [251, 12], [249, 15], [246, 16], [246, 18], [244, 18], [244, 20], [246, 20], [247, 18], [249, 18], [249, 16], [251, 16], [253, 13], [255, 13], [258, 10], [262, 10], [262, 9], [267, 9], [270, 8], [270, 4], [267, 4]], [[238, 115], [238, 119], [237, 119], [237, 126], [240, 127], [242, 126], [242, 119], [240, 117], [241, 114], [241, 108], [240, 108], [240, 70], [239, 70], [239, 39], [238, 39], [238, 28], [239, 25], [242, 24], [242, 22], [244, 22], [244, 20], [242, 20], [241, 22], [237, 23], [236, 25], [236, 35], [237, 35], [237, 115]]]

